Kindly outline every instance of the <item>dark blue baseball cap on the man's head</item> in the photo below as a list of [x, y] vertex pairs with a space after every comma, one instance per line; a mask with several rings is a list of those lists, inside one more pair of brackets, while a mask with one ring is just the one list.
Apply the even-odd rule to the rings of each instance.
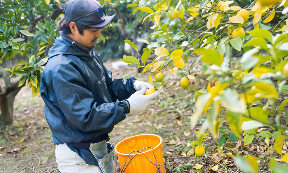
[[103, 6], [96, 0], [69, 0], [65, 3], [64, 15], [67, 19], [71, 21], [76, 20], [75, 22], [82, 25], [88, 25], [89, 27], [93, 28], [101, 28], [108, 25], [116, 15], [100, 15], [101, 17], [99, 17], [97, 14], [99, 10], [97, 9], [101, 9], [102, 7]]

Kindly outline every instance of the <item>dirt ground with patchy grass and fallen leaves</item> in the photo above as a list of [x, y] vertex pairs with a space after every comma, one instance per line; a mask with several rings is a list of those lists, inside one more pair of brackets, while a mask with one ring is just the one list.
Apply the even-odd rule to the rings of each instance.
[[[111, 62], [105, 63], [105, 66], [112, 70], [114, 78], [135, 76], [138, 80], [147, 81], [147, 75], [137, 73], [136, 67], [113, 69]], [[201, 77], [199, 68], [201, 67], [196, 66], [193, 69], [196, 80], [190, 80], [190, 86], [194, 86], [195, 89], [181, 89], [176, 82], [178, 78], [172, 76], [167, 82], [167, 86], [171, 87], [169, 89], [162, 87], [158, 90], [161, 95], [156, 104], [151, 105], [145, 112], [128, 114], [126, 119], [116, 125], [109, 134], [110, 142], [114, 144], [120, 136], [128, 133], [160, 135], [163, 138], [166, 172], [172, 172], [175, 167], [187, 163], [192, 163], [193, 166], [196, 163], [202, 165], [202, 172], [213, 172], [211, 167], [215, 165], [219, 166], [218, 172], [240, 172], [234, 160], [225, 153], [252, 154], [256, 157], [263, 155], [263, 152], [257, 149], [261, 143], [256, 140], [250, 146], [244, 146], [239, 140], [226, 143], [219, 148], [210, 136], [203, 144], [204, 156], [195, 157], [190, 142], [196, 140], [195, 131], [199, 129], [204, 119], [200, 119], [196, 129], [190, 129], [190, 117], [195, 103], [193, 91], [207, 86], [208, 83]], [[225, 124], [222, 127], [228, 128]], [[1, 146], [1, 172], [59, 172], [54, 154], [55, 146], [45, 119], [44, 103], [40, 95], [32, 98], [29, 89], [26, 87], [21, 89], [14, 103], [14, 124], [0, 132]], [[120, 170], [119, 164], [118, 170]], [[266, 159], [261, 160], [260, 170], [270, 172]], [[197, 171], [194, 168], [187, 168], [182, 172]]]

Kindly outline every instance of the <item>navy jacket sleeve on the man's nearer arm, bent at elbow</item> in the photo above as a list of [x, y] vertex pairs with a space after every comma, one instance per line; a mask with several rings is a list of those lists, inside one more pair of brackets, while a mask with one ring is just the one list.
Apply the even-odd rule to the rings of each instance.
[[86, 89], [77, 65], [57, 65], [52, 72], [53, 88], [60, 110], [72, 129], [97, 131], [111, 128], [129, 113], [125, 102], [98, 104]]

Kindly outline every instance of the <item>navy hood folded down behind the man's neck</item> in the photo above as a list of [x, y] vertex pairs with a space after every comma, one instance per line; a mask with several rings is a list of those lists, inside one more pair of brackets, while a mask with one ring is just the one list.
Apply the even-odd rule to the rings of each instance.
[[48, 57], [52, 58], [59, 54], [74, 55], [90, 59], [90, 54], [81, 50], [73, 40], [69, 42], [64, 40], [61, 36], [56, 37], [54, 46], [52, 46], [48, 52]]

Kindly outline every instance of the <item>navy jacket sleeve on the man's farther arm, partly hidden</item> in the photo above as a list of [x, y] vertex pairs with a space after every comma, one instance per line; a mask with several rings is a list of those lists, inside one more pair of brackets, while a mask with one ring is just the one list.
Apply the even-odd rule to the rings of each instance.
[[137, 80], [136, 78], [130, 77], [127, 80], [122, 78], [112, 80], [111, 71], [106, 69], [106, 72], [107, 88], [112, 101], [128, 99], [136, 92], [134, 89], [134, 81]]

